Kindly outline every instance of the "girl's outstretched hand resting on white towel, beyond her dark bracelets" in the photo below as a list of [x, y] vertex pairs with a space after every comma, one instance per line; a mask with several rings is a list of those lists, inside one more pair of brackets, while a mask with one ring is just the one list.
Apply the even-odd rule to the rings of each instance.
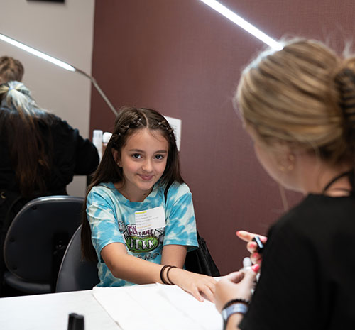
[[172, 268], [169, 278], [175, 285], [189, 292], [200, 302], [204, 301], [202, 295], [214, 302], [214, 288], [217, 281], [213, 277], [192, 273], [181, 268]]

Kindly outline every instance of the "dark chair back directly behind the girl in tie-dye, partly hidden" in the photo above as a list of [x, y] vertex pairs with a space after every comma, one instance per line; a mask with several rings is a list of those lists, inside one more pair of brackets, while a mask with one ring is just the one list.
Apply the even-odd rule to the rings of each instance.
[[80, 225], [70, 240], [58, 273], [56, 292], [91, 290], [99, 283], [97, 263], [82, 260]]

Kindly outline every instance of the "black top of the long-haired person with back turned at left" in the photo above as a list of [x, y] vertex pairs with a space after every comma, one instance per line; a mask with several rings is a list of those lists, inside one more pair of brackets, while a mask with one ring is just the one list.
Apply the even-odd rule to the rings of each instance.
[[[16, 127], [6, 126], [6, 121], [3, 121], [4, 126], [0, 129], [0, 297], [8, 295], [2, 287], [2, 273], [6, 270], [3, 244], [14, 216], [26, 202], [35, 197], [43, 194], [67, 194], [66, 188], [72, 181], [73, 175], [89, 175], [99, 164], [97, 149], [88, 139], [82, 138], [77, 129], [53, 114], [43, 113], [41, 117], [43, 120], [38, 121], [38, 127], [47, 146], [53, 145], [54, 158], [50, 175], [45, 182], [47, 188], [45, 193], [35, 191], [30, 197], [21, 196], [9, 150], [11, 130]], [[23, 153], [26, 153], [26, 150], [23, 150]]]

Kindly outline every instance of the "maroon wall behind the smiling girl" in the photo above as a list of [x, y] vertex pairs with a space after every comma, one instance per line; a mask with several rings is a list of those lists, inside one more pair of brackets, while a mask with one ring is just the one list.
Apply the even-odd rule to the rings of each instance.
[[[221, 1], [273, 38], [302, 35], [341, 49], [355, 35], [354, 0]], [[96, 1], [92, 73], [116, 108], [148, 106], [182, 119], [182, 173], [222, 274], [246, 255], [235, 231], [266, 233], [283, 212], [278, 185], [258, 165], [231, 104], [241, 69], [262, 48], [199, 0]], [[91, 130], [113, 122], [92, 89]]]

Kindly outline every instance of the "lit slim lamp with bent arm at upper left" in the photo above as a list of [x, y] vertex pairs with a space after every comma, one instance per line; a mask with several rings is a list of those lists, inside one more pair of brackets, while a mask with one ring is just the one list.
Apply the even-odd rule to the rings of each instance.
[[70, 64], [67, 64], [61, 60], [58, 60], [55, 57], [52, 57], [50, 55], [47, 55], [43, 52], [40, 52], [39, 50], [36, 50], [35, 48], [32, 48], [28, 45], [25, 45], [23, 43], [18, 42], [15, 39], [9, 38], [4, 34], [0, 33], [0, 40], [5, 41], [6, 43], [10, 43], [11, 45], [14, 45], [18, 48], [21, 48], [22, 50], [26, 50], [26, 52], [31, 53], [35, 56], [38, 56], [40, 58], [42, 58], [43, 60], [46, 60], [48, 62], [51, 62], [55, 65], [58, 65], [58, 67], [62, 67], [65, 70], [69, 70], [72, 72], [78, 72], [81, 75], [84, 75], [85, 77], [89, 78], [92, 82], [92, 84], [94, 85], [94, 87], [97, 89], [97, 92], [99, 92], [99, 94], [101, 95], [102, 99], [104, 99], [104, 101], [106, 102], [106, 104], [109, 106], [109, 108], [111, 109], [111, 111], [114, 113], [114, 115], [117, 115], [117, 111], [116, 109], [114, 109], [114, 106], [111, 104], [111, 102], [109, 101], [109, 99], [107, 98], [107, 96], [104, 94], [104, 92], [102, 91], [102, 89], [99, 87], [99, 84], [97, 84], [97, 81], [94, 79], [94, 77], [92, 77], [91, 75], [88, 75], [86, 72], [78, 69], [77, 67], [74, 67]]

